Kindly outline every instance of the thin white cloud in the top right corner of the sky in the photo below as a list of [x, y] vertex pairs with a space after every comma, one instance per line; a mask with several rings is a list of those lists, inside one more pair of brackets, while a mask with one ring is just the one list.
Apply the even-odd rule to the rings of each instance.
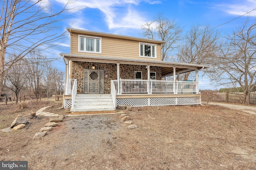
[[[256, 8], [256, 1], [255, 0], [240, 0], [240, 1], [233, 1], [232, 4], [220, 4], [218, 5], [221, 10], [228, 14], [242, 16], [247, 12], [250, 12], [254, 8]], [[250, 16], [256, 16], [256, 10], [249, 13]], [[247, 15], [246, 15], [247, 16]]]

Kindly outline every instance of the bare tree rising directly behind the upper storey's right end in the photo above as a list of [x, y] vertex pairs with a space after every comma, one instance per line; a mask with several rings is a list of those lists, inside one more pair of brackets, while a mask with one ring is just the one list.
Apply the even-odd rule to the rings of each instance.
[[161, 47], [162, 61], [168, 60], [170, 51], [177, 48], [177, 43], [180, 41], [180, 33], [182, 32], [176, 21], [158, 15], [153, 21], [141, 25], [141, 29], [143, 31], [142, 35], [146, 38], [165, 41]]

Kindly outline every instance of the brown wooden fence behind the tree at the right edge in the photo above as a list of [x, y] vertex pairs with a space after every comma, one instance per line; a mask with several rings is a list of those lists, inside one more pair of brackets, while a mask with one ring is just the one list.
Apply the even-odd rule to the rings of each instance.
[[[243, 93], [202, 93], [202, 101], [207, 102], [226, 102], [226, 103], [239, 103], [241, 104]], [[251, 93], [249, 102], [252, 105], [256, 105], [256, 94]]]

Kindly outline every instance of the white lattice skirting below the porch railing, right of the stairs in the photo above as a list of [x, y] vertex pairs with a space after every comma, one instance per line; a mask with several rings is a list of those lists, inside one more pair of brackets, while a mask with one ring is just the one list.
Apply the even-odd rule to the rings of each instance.
[[140, 106], [174, 106], [200, 104], [199, 97], [176, 97], [176, 98], [124, 98], [116, 99], [117, 105]]

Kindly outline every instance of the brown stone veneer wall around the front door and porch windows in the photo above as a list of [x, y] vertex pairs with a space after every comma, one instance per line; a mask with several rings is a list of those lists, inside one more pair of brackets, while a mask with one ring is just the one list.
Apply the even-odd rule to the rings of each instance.
[[[102, 67], [104, 70], [104, 93], [110, 94], [111, 92], [111, 80], [117, 80], [117, 65], [111, 63], [89, 63], [81, 61], [72, 62], [72, 78], [77, 79], [77, 93], [83, 94], [84, 86], [84, 69], [88, 69], [94, 64], [98, 68]], [[129, 65], [120, 64], [120, 78], [121, 79], [135, 79], [135, 71], [142, 71], [142, 79], [148, 79], [148, 70], [144, 65]], [[150, 66], [150, 72], [156, 72], [156, 80], [161, 80], [161, 67]]]

